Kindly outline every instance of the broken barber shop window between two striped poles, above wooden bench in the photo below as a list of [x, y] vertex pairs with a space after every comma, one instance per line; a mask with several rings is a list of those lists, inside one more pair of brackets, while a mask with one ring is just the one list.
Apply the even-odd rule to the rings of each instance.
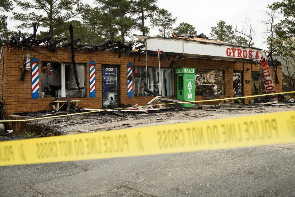
[[[73, 64], [41, 63], [41, 98], [85, 97], [85, 64], [76, 64], [80, 90], [76, 85]], [[63, 85], [64, 88], [63, 88]]]

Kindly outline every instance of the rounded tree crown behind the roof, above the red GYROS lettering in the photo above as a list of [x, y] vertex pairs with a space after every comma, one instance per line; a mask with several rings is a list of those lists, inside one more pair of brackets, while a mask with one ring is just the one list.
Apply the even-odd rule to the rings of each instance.
[[214, 40], [220, 40], [235, 44], [235, 34], [232, 25], [226, 25], [224, 21], [219, 21], [216, 27], [211, 27], [210, 36]]

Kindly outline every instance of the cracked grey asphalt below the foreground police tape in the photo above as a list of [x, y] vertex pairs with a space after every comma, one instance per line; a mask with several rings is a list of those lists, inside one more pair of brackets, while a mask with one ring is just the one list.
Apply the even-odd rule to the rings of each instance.
[[295, 144], [0, 167], [0, 196], [295, 196]]

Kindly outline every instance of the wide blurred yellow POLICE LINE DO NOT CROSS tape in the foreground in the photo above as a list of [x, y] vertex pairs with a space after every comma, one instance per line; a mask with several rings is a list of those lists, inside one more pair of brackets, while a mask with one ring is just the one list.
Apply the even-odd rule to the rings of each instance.
[[295, 111], [0, 142], [0, 166], [295, 142]]

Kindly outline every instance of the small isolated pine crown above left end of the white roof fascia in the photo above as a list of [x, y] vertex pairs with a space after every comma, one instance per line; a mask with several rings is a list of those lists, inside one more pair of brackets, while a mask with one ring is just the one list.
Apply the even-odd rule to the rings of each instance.
[[159, 27], [159, 33], [163, 37], [167, 37], [168, 33], [173, 30], [173, 25], [176, 22], [177, 17], [173, 18], [172, 14], [165, 9], [159, 10], [155, 14], [155, 18], [152, 19], [152, 23]]

